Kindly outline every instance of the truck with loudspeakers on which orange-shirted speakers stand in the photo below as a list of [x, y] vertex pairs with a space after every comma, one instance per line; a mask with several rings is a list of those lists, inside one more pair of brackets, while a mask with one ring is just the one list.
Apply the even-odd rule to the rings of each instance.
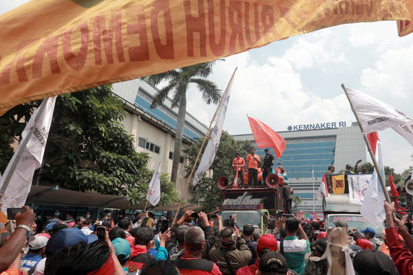
[[222, 189], [223, 202], [220, 205], [222, 220], [236, 214], [237, 225], [253, 225], [262, 234], [268, 229], [270, 217], [279, 217], [284, 213], [282, 187], [278, 183], [265, 187], [229, 188], [228, 179], [220, 177], [218, 187]]

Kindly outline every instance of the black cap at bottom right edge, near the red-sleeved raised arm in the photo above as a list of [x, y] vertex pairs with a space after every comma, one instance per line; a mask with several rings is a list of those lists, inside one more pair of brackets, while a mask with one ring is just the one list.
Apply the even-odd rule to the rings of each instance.
[[393, 261], [381, 251], [360, 251], [354, 256], [353, 266], [359, 275], [397, 274]]

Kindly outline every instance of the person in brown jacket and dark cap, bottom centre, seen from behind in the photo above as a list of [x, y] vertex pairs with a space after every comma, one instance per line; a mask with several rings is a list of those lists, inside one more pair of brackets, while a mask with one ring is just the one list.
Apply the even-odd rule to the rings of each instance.
[[248, 265], [251, 257], [251, 251], [241, 238], [240, 230], [234, 226], [221, 230], [220, 244], [211, 248], [207, 259], [216, 263], [223, 275], [231, 275], [240, 267]]

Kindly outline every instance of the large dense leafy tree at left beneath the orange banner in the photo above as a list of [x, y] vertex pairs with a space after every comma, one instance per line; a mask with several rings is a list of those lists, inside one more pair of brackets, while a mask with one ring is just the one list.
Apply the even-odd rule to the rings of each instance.
[[[12, 135], [23, 131], [39, 102], [14, 107], [3, 117], [12, 125]], [[145, 199], [152, 173], [149, 155], [136, 153], [134, 138], [125, 131], [123, 102], [105, 85], [56, 100], [41, 173], [43, 184], [58, 184], [72, 190], [128, 195], [132, 203]], [[1, 124], [0, 124], [1, 125]], [[2, 158], [4, 152], [1, 151]], [[163, 175], [161, 203], [177, 200], [173, 184]], [[165, 194], [165, 192], [167, 194]]]

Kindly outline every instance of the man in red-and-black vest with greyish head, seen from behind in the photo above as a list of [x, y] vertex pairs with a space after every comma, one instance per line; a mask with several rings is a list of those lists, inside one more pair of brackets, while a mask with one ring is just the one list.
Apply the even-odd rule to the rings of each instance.
[[198, 226], [193, 226], [185, 232], [185, 251], [182, 257], [176, 259], [176, 267], [180, 274], [213, 274], [222, 275], [220, 269], [212, 261], [202, 259], [204, 248], [204, 231]]

